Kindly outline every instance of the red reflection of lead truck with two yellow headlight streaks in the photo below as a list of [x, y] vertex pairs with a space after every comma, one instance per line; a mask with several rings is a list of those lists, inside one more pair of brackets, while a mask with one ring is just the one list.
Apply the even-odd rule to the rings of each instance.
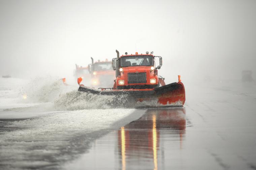
[[120, 167], [158, 169], [158, 162], [164, 161], [161, 149], [166, 141], [179, 141], [181, 149], [185, 130], [185, 109], [148, 110], [118, 131]]

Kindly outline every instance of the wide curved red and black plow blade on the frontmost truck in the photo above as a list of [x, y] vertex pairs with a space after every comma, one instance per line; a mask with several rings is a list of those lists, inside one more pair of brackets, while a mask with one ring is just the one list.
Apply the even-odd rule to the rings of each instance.
[[[183, 106], [185, 103], [185, 88], [182, 82], [173, 82], [155, 89], [106, 90], [94, 89], [80, 85], [78, 91], [96, 95], [112, 95], [123, 97], [126, 102], [141, 103], [141, 107]], [[124, 102], [123, 102], [124, 103]]]

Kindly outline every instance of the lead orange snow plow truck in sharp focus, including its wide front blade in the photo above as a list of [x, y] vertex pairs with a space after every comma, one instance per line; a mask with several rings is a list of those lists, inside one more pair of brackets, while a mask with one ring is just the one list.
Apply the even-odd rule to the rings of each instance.
[[[158, 69], [162, 66], [162, 57], [149, 54], [138, 54], [119, 56], [112, 59], [112, 67], [116, 70], [114, 87], [93, 89], [79, 85], [78, 91], [93, 93], [97, 95], [124, 96], [126, 101], [136, 103], [139, 106], [183, 106], [185, 103], [185, 88], [180, 80], [165, 85], [164, 78], [158, 75]], [[156, 59], [159, 65], [156, 66]], [[80, 81], [77, 81], [78, 84]]]

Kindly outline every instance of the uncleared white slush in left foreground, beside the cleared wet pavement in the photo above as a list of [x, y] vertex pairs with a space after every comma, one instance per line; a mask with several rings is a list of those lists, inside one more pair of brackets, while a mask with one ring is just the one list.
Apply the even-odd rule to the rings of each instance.
[[11, 124], [7, 123], [4, 129], [17, 130], [1, 133], [0, 164], [6, 169], [56, 166], [56, 162], [70, 160], [74, 154], [82, 152], [81, 147], [88, 148], [89, 141], [95, 137], [93, 132], [110, 127], [133, 111], [76, 110], [9, 122]]

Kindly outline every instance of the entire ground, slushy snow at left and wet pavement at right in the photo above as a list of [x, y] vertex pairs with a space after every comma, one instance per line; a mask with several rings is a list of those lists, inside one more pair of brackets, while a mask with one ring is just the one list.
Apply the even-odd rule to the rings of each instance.
[[1, 169], [256, 169], [255, 83], [184, 82], [184, 107], [164, 109], [56, 100], [52, 87], [24, 102], [6, 84]]

